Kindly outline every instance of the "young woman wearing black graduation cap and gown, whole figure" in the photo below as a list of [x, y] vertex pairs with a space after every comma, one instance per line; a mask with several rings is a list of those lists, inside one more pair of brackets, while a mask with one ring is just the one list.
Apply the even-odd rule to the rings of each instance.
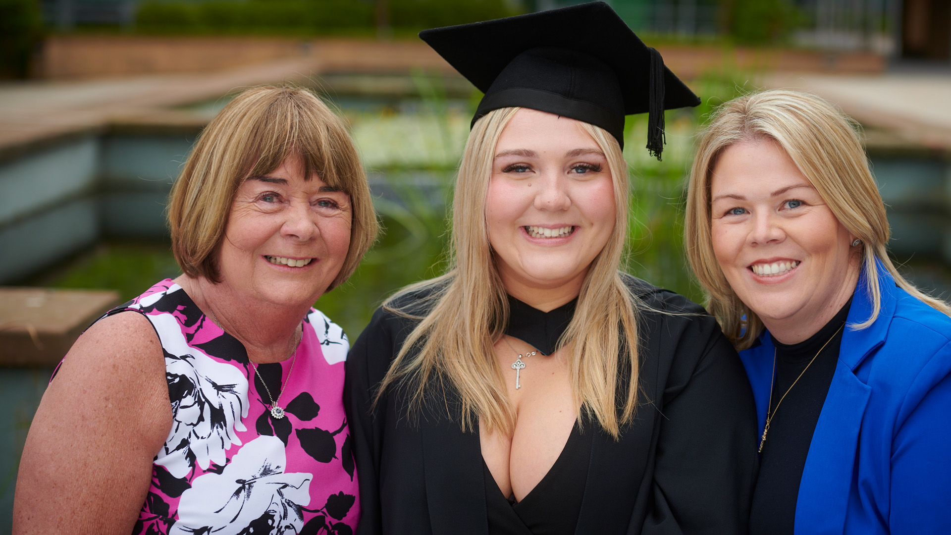
[[650, 110], [659, 156], [664, 109], [699, 100], [603, 3], [420, 36], [485, 96], [451, 268], [346, 363], [358, 533], [745, 533], [743, 367], [703, 308], [618, 271], [624, 116]]

